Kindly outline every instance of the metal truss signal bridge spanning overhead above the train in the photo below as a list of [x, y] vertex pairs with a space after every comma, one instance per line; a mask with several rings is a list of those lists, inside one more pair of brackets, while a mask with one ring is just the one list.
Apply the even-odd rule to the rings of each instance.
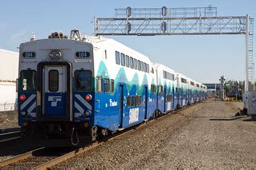
[[223, 35], [246, 37], [245, 91], [254, 86], [254, 18], [217, 16], [217, 7], [116, 9], [114, 18], [94, 18], [95, 35]]

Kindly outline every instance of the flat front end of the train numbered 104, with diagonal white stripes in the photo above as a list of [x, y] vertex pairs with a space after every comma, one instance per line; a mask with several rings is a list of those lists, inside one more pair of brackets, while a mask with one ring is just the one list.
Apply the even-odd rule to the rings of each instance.
[[18, 125], [25, 140], [45, 146], [95, 140], [92, 49], [78, 31], [20, 45]]

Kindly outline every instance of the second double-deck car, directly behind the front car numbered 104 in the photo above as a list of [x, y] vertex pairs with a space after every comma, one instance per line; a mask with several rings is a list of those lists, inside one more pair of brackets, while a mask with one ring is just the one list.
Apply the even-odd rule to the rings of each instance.
[[157, 109], [161, 113], [167, 113], [177, 105], [177, 96], [175, 89], [177, 82], [175, 81], [175, 72], [173, 69], [158, 63], [153, 64], [156, 68], [157, 76]]

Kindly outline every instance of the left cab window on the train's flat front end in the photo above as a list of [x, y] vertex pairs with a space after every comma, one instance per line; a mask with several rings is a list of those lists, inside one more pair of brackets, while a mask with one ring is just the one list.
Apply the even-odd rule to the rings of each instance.
[[22, 70], [21, 71], [21, 90], [35, 91], [36, 89], [36, 71]]

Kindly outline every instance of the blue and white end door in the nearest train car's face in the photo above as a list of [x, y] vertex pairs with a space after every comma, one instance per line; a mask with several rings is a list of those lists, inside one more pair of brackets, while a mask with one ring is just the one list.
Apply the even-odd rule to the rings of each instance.
[[[43, 67], [43, 115], [66, 117], [67, 66], [45, 65]], [[67, 118], [67, 117], [66, 117]]]

